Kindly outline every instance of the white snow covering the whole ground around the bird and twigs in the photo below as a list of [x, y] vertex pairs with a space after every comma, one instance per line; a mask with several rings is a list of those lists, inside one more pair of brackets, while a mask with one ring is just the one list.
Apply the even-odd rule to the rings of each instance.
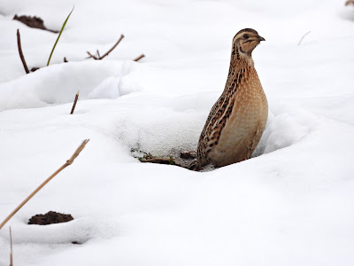
[[[58, 30], [73, 5], [44, 67], [58, 35], [12, 17]], [[270, 112], [253, 158], [209, 172], [135, 159], [131, 149], [196, 150], [244, 27], [266, 38], [253, 59]], [[43, 66], [35, 73], [17, 28], [28, 66]], [[354, 8], [344, 1], [0, 0], [0, 34], [0, 222], [90, 139], [0, 231], [0, 265], [9, 226], [14, 265], [354, 264]], [[85, 59], [121, 34], [107, 58]], [[74, 220], [27, 225], [50, 210]]]

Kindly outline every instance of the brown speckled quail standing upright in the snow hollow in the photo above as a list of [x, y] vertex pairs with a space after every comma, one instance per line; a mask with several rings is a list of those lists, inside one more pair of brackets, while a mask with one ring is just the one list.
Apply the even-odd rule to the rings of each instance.
[[199, 137], [197, 169], [250, 159], [256, 149], [268, 117], [266, 94], [252, 59], [252, 51], [261, 41], [266, 40], [251, 28], [235, 35], [225, 89]]

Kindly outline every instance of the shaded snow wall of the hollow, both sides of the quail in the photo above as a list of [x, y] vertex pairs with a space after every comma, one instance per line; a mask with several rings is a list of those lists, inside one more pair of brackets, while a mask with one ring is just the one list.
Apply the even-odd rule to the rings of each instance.
[[[125, 103], [120, 101], [117, 104], [123, 106], [114, 111], [120, 115], [112, 121], [114, 126], [109, 134], [128, 149], [154, 156], [179, 156], [182, 151], [196, 151], [209, 113], [207, 108], [212, 106], [215, 98], [215, 93], [189, 95], [189, 100], [185, 97], [132, 95], [125, 98]], [[269, 100], [271, 109], [266, 129], [252, 157], [295, 145], [317, 127], [318, 118], [301, 106], [286, 100]], [[134, 104], [139, 108], [124, 111], [126, 105]]]

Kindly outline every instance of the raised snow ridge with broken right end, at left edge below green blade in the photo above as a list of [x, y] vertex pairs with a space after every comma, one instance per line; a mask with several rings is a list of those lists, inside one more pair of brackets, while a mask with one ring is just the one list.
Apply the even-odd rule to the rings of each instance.
[[80, 98], [119, 98], [141, 90], [135, 82], [135, 62], [69, 62], [43, 67], [0, 84], [0, 111], [73, 102]]

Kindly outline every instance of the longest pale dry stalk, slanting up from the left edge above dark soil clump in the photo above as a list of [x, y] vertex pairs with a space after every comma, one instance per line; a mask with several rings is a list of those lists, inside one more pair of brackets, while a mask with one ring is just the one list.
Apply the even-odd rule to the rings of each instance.
[[19, 204], [19, 207], [16, 207], [16, 208], [12, 211], [12, 213], [6, 217], [6, 219], [3, 221], [3, 223], [0, 224], [0, 230], [1, 230], [1, 229], [3, 228], [3, 226], [12, 218], [12, 216], [15, 215], [15, 214], [19, 211], [19, 209], [20, 209], [21, 207], [23, 207], [23, 206], [27, 203], [28, 200], [31, 200], [32, 197], [35, 196], [35, 194], [36, 194], [37, 192], [39, 192], [39, 191], [42, 189], [42, 187], [43, 187], [44, 185], [48, 184], [48, 182], [50, 182], [50, 180], [51, 180], [54, 176], [57, 176], [58, 173], [60, 173], [64, 168], [66, 168], [66, 167], [68, 167], [69, 165], [71, 165], [71, 164], [73, 163], [73, 160], [75, 160], [76, 157], [79, 156], [79, 154], [80, 154], [81, 151], [85, 148], [85, 145], [88, 144], [88, 142], [89, 142], [89, 139], [85, 139], [85, 140], [81, 143], [81, 145], [76, 149], [76, 151], [73, 153], [73, 156], [72, 156], [69, 160], [66, 160], [65, 164], [63, 164], [63, 166], [62, 166], [61, 168], [58, 168], [58, 170], [55, 171], [50, 177], [48, 177], [40, 186], [38, 186], [38, 187], [35, 189], [35, 191], [32, 192], [32, 193], [26, 198], [26, 200], [23, 200], [23, 201], [21, 202], [21, 204]]

